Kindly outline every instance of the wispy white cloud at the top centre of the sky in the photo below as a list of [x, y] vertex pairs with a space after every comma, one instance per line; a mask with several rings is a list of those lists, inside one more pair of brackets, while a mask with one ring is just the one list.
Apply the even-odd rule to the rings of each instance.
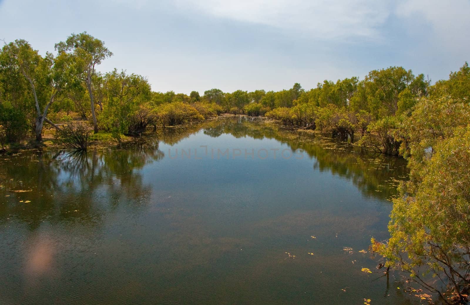
[[376, 37], [390, 14], [376, 0], [176, 0], [176, 7], [240, 22], [308, 32], [316, 38]]

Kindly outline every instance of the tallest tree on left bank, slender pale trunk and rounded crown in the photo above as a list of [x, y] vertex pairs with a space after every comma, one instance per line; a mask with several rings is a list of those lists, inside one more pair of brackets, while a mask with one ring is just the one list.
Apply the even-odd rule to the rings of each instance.
[[55, 49], [59, 53], [71, 52], [77, 68], [82, 72], [82, 79], [85, 81], [88, 94], [90, 95], [91, 115], [93, 118], [94, 133], [98, 133], [98, 124], [94, 111], [94, 94], [92, 78], [95, 74], [95, 68], [102, 63], [104, 59], [113, 55], [104, 42], [96, 39], [88, 33], [72, 34], [65, 41], [55, 44]]

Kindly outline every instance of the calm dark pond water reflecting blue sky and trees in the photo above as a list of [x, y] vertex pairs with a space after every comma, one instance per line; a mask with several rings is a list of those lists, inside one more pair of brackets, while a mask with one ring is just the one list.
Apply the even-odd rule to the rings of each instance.
[[414, 304], [359, 252], [406, 175], [243, 118], [2, 156], [0, 304]]

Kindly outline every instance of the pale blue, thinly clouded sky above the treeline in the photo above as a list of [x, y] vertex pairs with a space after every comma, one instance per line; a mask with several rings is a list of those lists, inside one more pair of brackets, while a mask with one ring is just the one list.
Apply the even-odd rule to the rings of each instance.
[[432, 82], [470, 60], [470, 0], [0, 0], [0, 39], [41, 54], [87, 31], [113, 52], [98, 68], [152, 90], [316, 87], [403, 66]]

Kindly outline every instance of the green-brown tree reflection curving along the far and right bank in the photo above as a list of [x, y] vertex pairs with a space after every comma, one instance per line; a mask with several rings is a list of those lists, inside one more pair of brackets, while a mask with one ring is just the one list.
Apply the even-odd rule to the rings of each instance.
[[334, 175], [351, 180], [364, 194], [390, 198], [396, 194], [397, 180], [406, 179], [406, 162], [402, 158], [378, 155], [342, 141], [304, 131], [293, 132], [282, 127], [247, 117], [226, 118], [200, 125], [167, 131], [163, 141], [175, 145], [191, 134], [203, 130], [204, 134], [219, 137], [231, 134], [235, 138], [274, 139], [285, 143], [295, 152], [302, 149], [315, 158], [314, 169], [328, 170]]

